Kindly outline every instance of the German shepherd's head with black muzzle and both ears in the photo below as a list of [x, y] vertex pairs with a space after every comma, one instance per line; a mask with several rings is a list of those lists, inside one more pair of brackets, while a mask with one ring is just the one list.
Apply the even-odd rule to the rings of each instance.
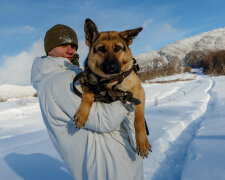
[[129, 45], [142, 29], [98, 32], [95, 23], [86, 19], [84, 31], [89, 46], [86, 66], [105, 78], [131, 69], [133, 61]]

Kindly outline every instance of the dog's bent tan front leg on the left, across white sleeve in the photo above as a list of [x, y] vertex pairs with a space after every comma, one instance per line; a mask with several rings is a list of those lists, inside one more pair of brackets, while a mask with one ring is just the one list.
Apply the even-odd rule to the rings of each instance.
[[83, 94], [80, 107], [74, 116], [75, 124], [78, 128], [82, 128], [86, 121], [88, 120], [88, 116], [91, 110], [91, 106], [94, 102], [94, 93], [90, 92], [87, 87], [83, 87]]

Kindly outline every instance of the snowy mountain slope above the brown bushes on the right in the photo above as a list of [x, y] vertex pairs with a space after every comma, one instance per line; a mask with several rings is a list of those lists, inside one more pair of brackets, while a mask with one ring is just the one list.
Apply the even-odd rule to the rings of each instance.
[[191, 51], [216, 51], [225, 49], [225, 28], [215, 29], [190, 38], [176, 41], [158, 51], [135, 56], [141, 69], [168, 64], [174, 59], [184, 62]]

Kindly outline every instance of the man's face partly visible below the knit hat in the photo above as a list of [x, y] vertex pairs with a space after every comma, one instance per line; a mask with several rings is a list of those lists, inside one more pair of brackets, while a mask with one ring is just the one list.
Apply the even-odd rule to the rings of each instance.
[[61, 46], [53, 48], [51, 51], [48, 52], [48, 55], [54, 57], [64, 57], [69, 60], [72, 60], [76, 52], [76, 46], [71, 44], [63, 44]]

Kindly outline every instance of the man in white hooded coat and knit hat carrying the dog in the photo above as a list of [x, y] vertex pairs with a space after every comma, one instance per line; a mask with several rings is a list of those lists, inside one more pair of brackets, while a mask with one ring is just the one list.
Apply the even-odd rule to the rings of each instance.
[[73, 117], [81, 99], [73, 92], [73, 79], [81, 69], [73, 65], [78, 64], [76, 33], [65, 25], [53, 26], [44, 45], [47, 56], [34, 60], [31, 83], [49, 136], [73, 178], [143, 179], [143, 161], [135, 152], [132, 105], [95, 102], [85, 126], [77, 129]]

